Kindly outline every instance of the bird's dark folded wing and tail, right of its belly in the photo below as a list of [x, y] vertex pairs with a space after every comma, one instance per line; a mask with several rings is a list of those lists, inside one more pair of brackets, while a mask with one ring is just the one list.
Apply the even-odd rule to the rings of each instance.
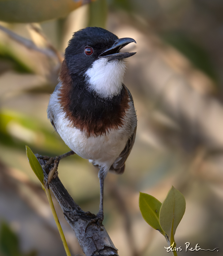
[[[137, 128], [137, 126], [136, 126], [136, 128]], [[132, 150], [133, 144], [135, 142], [136, 128], [135, 128], [134, 132], [132, 133], [131, 137], [128, 139], [124, 150], [122, 150], [119, 157], [116, 159], [116, 161], [114, 161], [113, 165], [110, 167], [110, 171], [116, 172], [116, 174], [122, 174], [124, 172], [125, 161], [128, 158], [128, 156]]]

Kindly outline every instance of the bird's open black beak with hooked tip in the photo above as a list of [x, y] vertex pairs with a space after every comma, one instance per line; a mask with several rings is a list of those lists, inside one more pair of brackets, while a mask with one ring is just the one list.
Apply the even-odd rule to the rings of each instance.
[[117, 39], [111, 48], [99, 55], [99, 58], [107, 58], [107, 61], [111, 61], [131, 57], [136, 52], [119, 52], [119, 50], [132, 42], [136, 43], [134, 39], [128, 37]]

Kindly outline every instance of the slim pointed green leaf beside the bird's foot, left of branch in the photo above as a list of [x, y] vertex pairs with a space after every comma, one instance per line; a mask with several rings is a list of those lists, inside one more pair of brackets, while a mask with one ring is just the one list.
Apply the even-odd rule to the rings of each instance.
[[26, 155], [31, 168], [33, 169], [33, 172], [35, 173], [41, 184], [44, 186], [44, 172], [39, 161], [28, 146], [26, 146]]

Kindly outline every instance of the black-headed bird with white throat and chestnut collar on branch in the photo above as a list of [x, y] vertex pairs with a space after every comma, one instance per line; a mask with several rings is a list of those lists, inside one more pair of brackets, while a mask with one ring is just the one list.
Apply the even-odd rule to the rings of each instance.
[[108, 172], [124, 172], [136, 137], [136, 110], [123, 83], [125, 59], [136, 52], [120, 52], [132, 42], [136, 43], [101, 27], [73, 33], [47, 109], [48, 119], [65, 144], [99, 168], [96, 216], [101, 223], [105, 177]]

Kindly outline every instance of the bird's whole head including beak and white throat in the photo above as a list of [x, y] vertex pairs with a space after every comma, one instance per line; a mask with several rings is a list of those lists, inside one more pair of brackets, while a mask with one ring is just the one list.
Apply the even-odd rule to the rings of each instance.
[[[132, 38], [118, 39], [100, 27], [87, 27], [73, 34], [65, 50], [65, 60], [73, 80], [84, 79], [88, 91], [103, 98], [117, 95], [122, 86], [125, 64], [134, 53], [120, 53]], [[83, 84], [83, 83], [82, 83]]]

